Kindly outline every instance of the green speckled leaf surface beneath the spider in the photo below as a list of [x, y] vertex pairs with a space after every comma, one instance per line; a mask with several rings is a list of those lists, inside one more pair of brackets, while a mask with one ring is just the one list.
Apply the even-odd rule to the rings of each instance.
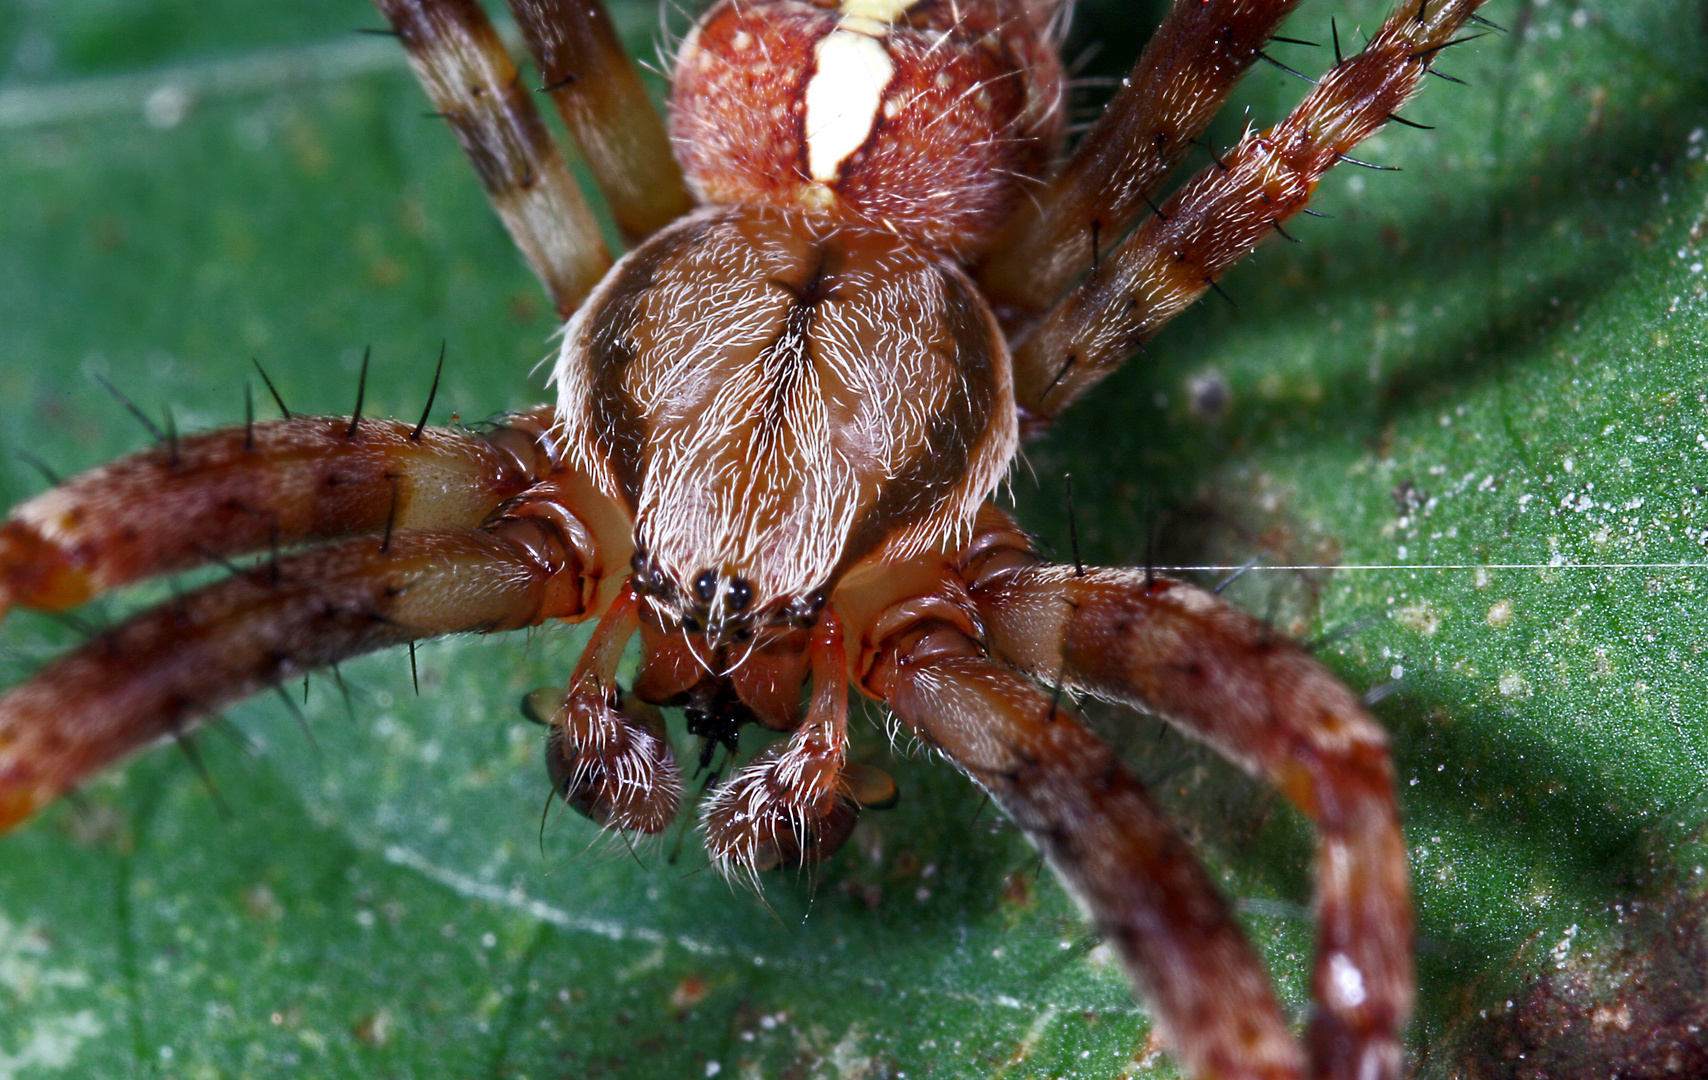
[[[1083, 9], [1119, 73], [1155, 12]], [[1331, 14], [1353, 43], [1382, 7], [1307, 5], [1288, 32], [1327, 41]], [[1334, 220], [1257, 253], [1223, 280], [1237, 309], [1189, 313], [1016, 473], [1062, 557], [1071, 473], [1086, 561], [1348, 567], [1230, 595], [1325, 639], [1351, 685], [1397, 680], [1377, 713], [1413, 842], [1413, 1036], [1443, 1077], [1513, 1068], [1566, 976], [1653, 960], [1626, 913], [1699, 901], [1708, 822], [1699, 12], [1488, 14], [1510, 32], [1440, 60], [1471, 85], [1406, 109], [1435, 130], [1360, 152], [1401, 173], [1339, 169]], [[618, 21], [644, 46], [656, 10]], [[436, 419], [541, 398], [548, 308], [396, 44], [350, 32], [379, 24], [343, 0], [0, 14], [0, 502], [41, 489], [12, 451], [70, 473], [143, 444], [96, 374], [196, 429], [241, 422], [251, 357], [292, 408], [343, 412], [371, 345], [369, 412], [413, 419], [444, 342]], [[1216, 142], [1300, 92], [1254, 72]], [[352, 663], [309, 685], [307, 731], [261, 699], [200, 738], [217, 798], [161, 750], [0, 839], [0, 1077], [1173, 1075], [1016, 834], [874, 726], [857, 754], [902, 807], [763, 902], [692, 832], [634, 858], [572, 815], [541, 834], [516, 701], [579, 639], [424, 646], [420, 696], [407, 656]], [[73, 641], [12, 615], [0, 682]], [[1308, 831], [1153, 721], [1100, 723], [1301, 1010]]]

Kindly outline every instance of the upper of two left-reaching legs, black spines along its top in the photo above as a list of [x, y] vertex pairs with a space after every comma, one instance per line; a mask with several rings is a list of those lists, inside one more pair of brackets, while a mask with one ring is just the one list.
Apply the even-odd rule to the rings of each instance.
[[309, 540], [477, 528], [550, 472], [548, 424], [545, 408], [485, 434], [292, 417], [121, 458], [0, 523], [0, 615]]

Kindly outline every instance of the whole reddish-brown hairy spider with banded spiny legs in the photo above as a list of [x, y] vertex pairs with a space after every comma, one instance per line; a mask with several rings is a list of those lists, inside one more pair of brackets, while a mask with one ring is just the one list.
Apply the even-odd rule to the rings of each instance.
[[[1033, 190], [1062, 126], [1047, 3], [714, 7], [678, 55], [685, 185], [601, 17], [519, 2], [639, 244], [610, 272], [478, 9], [381, 7], [572, 316], [557, 408], [480, 434], [355, 415], [167, 436], [17, 508], [7, 605], [266, 555], [0, 699], [0, 822], [304, 670], [596, 620], [569, 687], [531, 697], [553, 786], [594, 820], [676, 817], [656, 706], [681, 706], [709, 747], [753, 723], [787, 735], [705, 800], [714, 861], [828, 856], [893, 793], [844, 760], [852, 684], [1027, 831], [1189, 1070], [1399, 1075], [1406, 858], [1358, 699], [1202, 590], [1045, 562], [987, 499], [1021, 434], [1305, 208], [1477, 3], [1402, 5], [1293, 118], [1153, 203], [1293, 3], [1177, 3], [1074, 164]], [[637, 634], [644, 665], [620, 687]], [[1317, 824], [1303, 1046], [1216, 889], [1062, 689], [1163, 714]]]

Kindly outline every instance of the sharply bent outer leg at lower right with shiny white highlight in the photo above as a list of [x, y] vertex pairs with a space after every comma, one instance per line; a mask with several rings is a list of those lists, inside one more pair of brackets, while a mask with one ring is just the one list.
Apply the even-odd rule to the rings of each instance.
[[1144, 571], [1044, 564], [994, 509], [963, 574], [992, 654], [1167, 718], [1310, 817], [1312, 1075], [1399, 1077], [1413, 1001], [1411, 887], [1387, 738], [1358, 697], [1213, 593]]

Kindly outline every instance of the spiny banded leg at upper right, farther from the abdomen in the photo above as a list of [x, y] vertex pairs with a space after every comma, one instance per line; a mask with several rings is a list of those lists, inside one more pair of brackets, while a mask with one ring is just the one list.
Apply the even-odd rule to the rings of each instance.
[[1049, 424], [1303, 210], [1324, 173], [1416, 94], [1481, 3], [1404, 0], [1286, 120], [1245, 135], [1141, 222], [1015, 349], [1025, 426]]

